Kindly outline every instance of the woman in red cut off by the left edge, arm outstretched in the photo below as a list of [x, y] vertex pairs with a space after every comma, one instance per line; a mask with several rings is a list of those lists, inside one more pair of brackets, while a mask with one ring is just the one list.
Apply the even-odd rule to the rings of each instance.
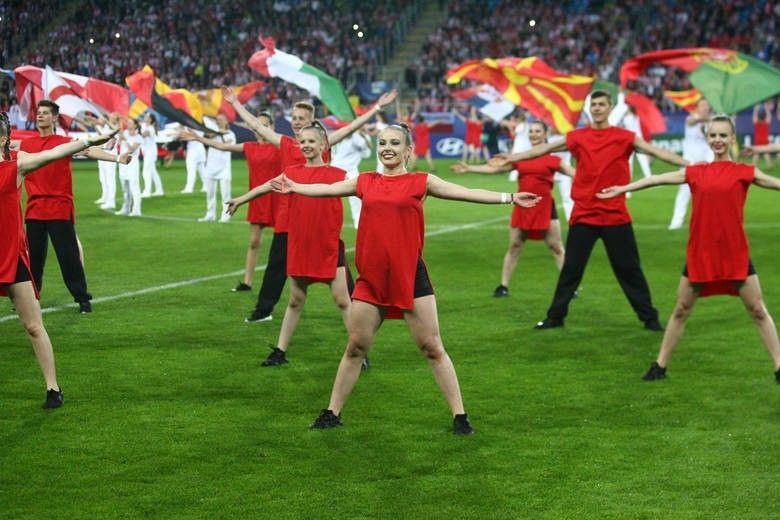
[[[116, 132], [114, 132], [115, 134]], [[113, 136], [82, 139], [61, 144], [39, 153], [11, 154], [11, 127], [8, 116], [0, 112], [0, 296], [9, 296], [32, 343], [35, 357], [46, 380], [44, 408], [62, 406], [62, 390], [57, 384], [54, 351], [43, 326], [38, 290], [30, 272], [27, 237], [22, 227], [22, 207], [19, 199], [24, 177], [47, 164], [108, 142]]]

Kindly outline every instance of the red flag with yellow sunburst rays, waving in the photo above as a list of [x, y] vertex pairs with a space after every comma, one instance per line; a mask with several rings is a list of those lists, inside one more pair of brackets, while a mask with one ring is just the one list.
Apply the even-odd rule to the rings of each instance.
[[577, 124], [594, 81], [561, 74], [536, 57], [469, 61], [450, 69], [446, 79], [449, 84], [469, 79], [493, 85], [506, 99], [561, 133]]

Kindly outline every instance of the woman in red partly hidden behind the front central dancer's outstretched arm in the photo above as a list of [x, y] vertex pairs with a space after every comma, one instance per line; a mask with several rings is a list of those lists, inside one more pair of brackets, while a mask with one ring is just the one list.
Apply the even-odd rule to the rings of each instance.
[[[327, 133], [319, 123], [303, 128], [298, 134], [298, 144], [306, 163], [288, 166], [284, 175], [295, 182], [306, 184], [330, 185], [343, 181], [346, 175], [344, 170], [325, 164], [322, 160], [327, 143]], [[241, 204], [270, 191], [271, 183], [268, 181], [230, 200], [227, 212], [232, 215]], [[290, 300], [276, 348], [263, 362], [263, 366], [287, 363], [287, 348], [306, 303], [309, 284], [323, 282], [330, 286], [345, 327], [350, 306], [344, 245], [340, 238], [344, 221], [341, 199], [313, 199], [301, 195], [287, 197], [290, 199], [290, 215], [295, 215], [288, 224], [287, 276], [290, 278]]]

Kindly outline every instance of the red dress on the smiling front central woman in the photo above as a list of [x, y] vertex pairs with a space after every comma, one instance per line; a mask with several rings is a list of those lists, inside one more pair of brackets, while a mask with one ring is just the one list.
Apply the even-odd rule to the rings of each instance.
[[388, 307], [388, 318], [414, 307], [417, 262], [425, 236], [423, 198], [427, 173], [358, 176], [363, 201], [355, 243], [359, 276], [352, 298]]

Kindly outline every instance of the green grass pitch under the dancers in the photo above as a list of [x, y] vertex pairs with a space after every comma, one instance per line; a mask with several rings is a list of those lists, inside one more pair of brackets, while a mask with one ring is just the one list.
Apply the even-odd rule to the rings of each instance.
[[[506, 176], [443, 177], [509, 191]], [[659, 168], [660, 170], [661, 168]], [[668, 168], [666, 168], [668, 169]], [[442, 336], [477, 429], [449, 410], [403, 322], [386, 322], [343, 412], [312, 432], [346, 334], [325, 286], [309, 300], [290, 364], [262, 368], [274, 321], [243, 322], [248, 229], [198, 223], [183, 164], [144, 217], [96, 208], [97, 168], [77, 162], [77, 229], [95, 311], [44, 315], [65, 406], [42, 410], [42, 378], [16, 319], [0, 321], [0, 510], [5, 518], [768, 518], [780, 491], [780, 387], [738, 299], [701, 300], [666, 381], [640, 376], [661, 335], [642, 329], [597, 245], [566, 328], [533, 331], [557, 273], [528, 242], [510, 297], [491, 297], [508, 208], [426, 202], [425, 257]], [[246, 186], [235, 161], [234, 193]], [[778, 174], [775, 169], [770, 173]], [[629, 201], [665, 321], [686, 233], [674, 187]], [[780, 312], [777, 194], [751, 189], [746, 222], [770, 311]], [[348, 209], [345, 211], [349, 221]], [[354, 230], [344, 228], [348, 247]], [[266, 231], [262, 265], [270, 244]], [[351, 256], [351, 255], [350, 255]], [[170, 284], [168, 288], [166, 285]], [[148, 290], [150, 288], [156, 288]], [[71, 304], [53, 252], [41, 304]], [[0, 320], [11, 316], [1, 304]]]

